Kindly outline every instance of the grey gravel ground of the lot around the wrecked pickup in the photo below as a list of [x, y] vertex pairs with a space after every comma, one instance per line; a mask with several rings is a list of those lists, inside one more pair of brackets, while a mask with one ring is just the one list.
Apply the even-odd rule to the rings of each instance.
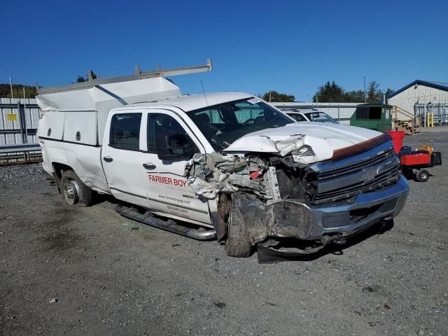
[[[448, 160], [448, 130], [405, 139], [423, 142]], [[390, 230], [260, 265], [0, 167], [0, 335], [448, 335], [447, 172], [409, 181]]]

